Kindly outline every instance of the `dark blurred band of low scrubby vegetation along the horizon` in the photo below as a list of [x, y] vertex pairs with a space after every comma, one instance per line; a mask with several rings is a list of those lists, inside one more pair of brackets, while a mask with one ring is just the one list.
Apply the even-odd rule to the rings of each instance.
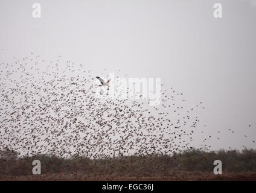
[[[0, 177], [26, 176], [32, 172], [33, 160], [40, 160], [42, 174], [72, 173], [82, 174], [141, 174], [153, 176], [171, 174], [173, 171], [213, 171], [214, 160], [221, 160], [223, 171], [256, 172], [256, 150], [211, 151], [189, 150], [173, 156], [133, 155], [115, 159], [89, 159], [72, 157], [63, 159], [56, 156], [39, 154], [18, 157], [10, 150], [2, 151], [0, 157]], [[8, 156], [11, 155], [11, 156]]]

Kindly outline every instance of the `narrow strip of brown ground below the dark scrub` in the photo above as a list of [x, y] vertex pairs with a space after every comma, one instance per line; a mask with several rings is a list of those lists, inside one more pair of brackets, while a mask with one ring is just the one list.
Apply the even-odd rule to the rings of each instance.
[[140, 176], [100, 176], [95, 174], [80, 174], [80, 173], [59, 173], [59, 174], [42, 174], [40, 176], [5, 176], [0, 177], [0, 180], [50, 180], [50, 181], [62, 181], [62, 180], [85, 180], [85, 181], [158, 181], [158, 180], [168, 180], [168, 181], [177, 181], [177, 180], [249, 180], [256, 181], [255, 172], [243, 172], [243, 173], [234, 173], [234, 172], [223, 172], [222, 175], [216, 176], [213, 172], [179, 172], [179, 174], [170, 174], [169, 176], [149, 176], [149, 175], [140, 175]]

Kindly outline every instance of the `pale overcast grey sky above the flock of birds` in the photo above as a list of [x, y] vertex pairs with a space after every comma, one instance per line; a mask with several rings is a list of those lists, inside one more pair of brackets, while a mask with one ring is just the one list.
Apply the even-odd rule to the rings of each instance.
[[[31, 16], [35, 2], [40, 19]], [[221, 19], [213, 17], [216, 2]], [[62, 55], [93, 73], [107, 67], [129, 77], [160, 77], [188, 103], [203, 102], [205, 135], [223, 131], [214, 150], [256, 147], [254, 0], [1, 0], [0, 29], [1, 62], [33, 51], [46, 59]]]

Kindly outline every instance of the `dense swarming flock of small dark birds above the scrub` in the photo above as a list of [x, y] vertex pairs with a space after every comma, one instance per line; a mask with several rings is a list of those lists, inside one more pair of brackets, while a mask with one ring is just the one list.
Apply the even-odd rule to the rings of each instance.
[[[184, 95], [163, 89], [164, 84], [159, 106], [149, 106], [149, 100], [97, 98], [99, 82], [91, 70], [61, 59], [42, 60], [31, 52], [1, 63], [0, 147], [21, 155], [91, 159], [193, 148], [199, 124], [193, 112], [205, 109], [202, 102], [186, 107]], [[100, 76], [107, 77], [106, 69]], [[202, 148], [211, 147], [206, 145], [210, 138]]]

